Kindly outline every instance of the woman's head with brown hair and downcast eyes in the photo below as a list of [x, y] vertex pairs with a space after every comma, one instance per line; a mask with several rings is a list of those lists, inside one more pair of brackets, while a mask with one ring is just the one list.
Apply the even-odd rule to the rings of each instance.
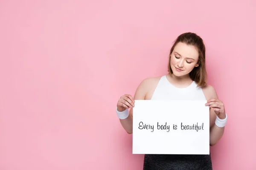
[[189, 75], [198, 87], [207, 84], [205, 46], [201, 37], [185, 33], [177, 38], [170, 50], [168, 71], [170, 74], [177, 71], [178, 75]]

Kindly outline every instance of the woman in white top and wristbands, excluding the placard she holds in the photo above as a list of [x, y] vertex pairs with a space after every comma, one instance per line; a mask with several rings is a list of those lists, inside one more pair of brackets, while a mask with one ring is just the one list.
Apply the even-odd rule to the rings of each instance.
[[[195, 33], [177, 37], [171, 48], [168, 62], [169, 74], [144, 79], [134, 97], [120, 97], [116, 113], [127, 133], [132, 133], [135, 100], [184, 99], [207, 100], [210, 121], [210, 146], [214, 146], [224, 133], [227, 114], [215, 89], [207, 85], [204, 42]], [[128, 111], [128, 108], [131, 108]], [[145, 154], [144, 170], [212, 170], [211, 155], [154, 155]]]

